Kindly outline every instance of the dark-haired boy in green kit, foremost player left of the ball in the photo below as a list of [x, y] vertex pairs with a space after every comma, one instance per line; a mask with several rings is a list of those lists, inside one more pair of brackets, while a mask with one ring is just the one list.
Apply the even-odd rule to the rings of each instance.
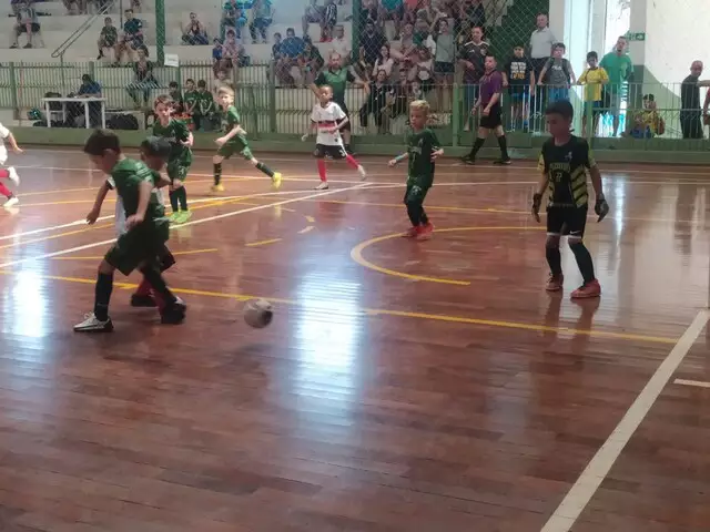
[[[119, 236], [99, 265], [93, 313], [77, 324], [74, 331], [113, 330], [113, 323], [109, 317], [109, 303], [113, 290], [113, 273], [116, 269], [128, 276], [139, 268], [164, 301], [161, 321], [163, 324], [182, 323], [187, 307], [170, 291], [160, 272], [159, 257], [164, 254], [170, 224], [164, 216], [162, 203], [153, 192], [153, 171], [140, 161], [126, 158], [121, 152], [119, 137], [111, 131], [98, 130], [92, 133], [84, 145], [84, 153], [99, 170], [113, 178], [116, 193], [125, 208], [126, 232]], [[105, 197], [103, 187], [100, 194], [102, 192]], [[97, 196], [97, 204], [99, 204], [99, 196]]]

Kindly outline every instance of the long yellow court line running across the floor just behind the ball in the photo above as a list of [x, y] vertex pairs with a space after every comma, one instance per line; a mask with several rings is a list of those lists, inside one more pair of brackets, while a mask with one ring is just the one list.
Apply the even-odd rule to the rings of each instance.
[[[17, 272], [8, 272], [0, 270], [1, 275], [18, 275]], [[67, 283], [81, 283], [87, 285], [95, 284], [95, 279], [85, 278], [85, 277], [65, 277], [59, 275], [39, 275], [40, 278], [47, 280], [62, 280]], [[119, 288], [133, 289], [138, 285], [134, 283], [114, 283], [114, 286]], [[223, 291], [210, 291], [210, 290], [196, 290], [192, 288], [174, 288], [171, 287], [171, 290], [175, 294], [185, 294], [193, 296], [205, 296], [205, 297], [217, 297], [223, 299], [233, 299], [237, 301], [247, 301], [250, 299], [262, 299], [260, 296], [251, 296], [246, 294], [230, 294]], [[293, 299], [283, 299], [276, 297], [267, 297], [272, 303], [278, 303], [283, 305], [292, 305], [298, 306], [300, 303]], [[312, 305], [308, 306], [313, 308]], [[504, 321], [504, 320], [493, 320], [493, 319], [478, 319], [478, 318], [467, 318], [463, 316], [449, 316], [443, 314], [427, 314], [427, 313], [409, 313], [405, 310], [389, 310], [382, 308], [363, 308], [363, 313], [372, 316], [393, 316], [399, 318], [410, 318], [410, 319], [422, 319], [422, 320], [435, 320], [435, 321], [446, 321], [452, 324], [466, 324], [466, 325], [477, 325], [483, 327], [497, 327], [497, 328], [506, 328], [506, 329], [518, 329], [518, 330], [530, 330], [537, 332], [562, 332], [562, 334], [571, 334], [571, 335], [581, 335], [588, 336], [592, 338], [608, 338], [616, 340], [628, 340], [628, 341], [643, 341], [649, 344], [671, 344], [674, 345], [678, 342], [678, 338], [667, 338], [662, 336], [647, 336], [640, 334], [626, 334], [626, 332], [609, 332], [604, 330], [589, 330], [589, 329], [575, 329], [569, 327], [550, 327], [546, 325], [538, 324], [526, 324], [520, 321]]]

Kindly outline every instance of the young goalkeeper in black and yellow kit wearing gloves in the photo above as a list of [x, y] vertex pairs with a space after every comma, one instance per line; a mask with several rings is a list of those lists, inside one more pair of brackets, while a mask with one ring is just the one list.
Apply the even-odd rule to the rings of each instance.
[[547, 125], [552, 139], [542, 145], [538, 170], [542, 173], [537, 192], [532, 196], [532, 216], [540, 221], [540, 206], [545, 190], [549, 191], [547, 205], [547, 243], [545, 245], [547, 263], [550, 266], [550, 279], [547, 291], [562, 289], [562, 275], [559, 241], [568, 235], [567, 243], [575, 254], [584, 284], [572, 291], [575, 299], [599, 297], [601, 287], [595, 277], [595, 267], [589, 250], [582, 243], [589, 194], [587, 191], [587, 171], [595, 190], [595, 213], [601, 222], [609, 214], [609, 205], [601, 191], [601, 174], [584, 139], [571, 134], [575, 116], [572, 104], [567, 100], [552, 103], [545, 112]]

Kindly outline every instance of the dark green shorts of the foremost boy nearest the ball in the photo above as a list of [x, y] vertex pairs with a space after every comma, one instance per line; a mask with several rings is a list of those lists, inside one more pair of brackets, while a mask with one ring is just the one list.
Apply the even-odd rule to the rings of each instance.
[[154, 225], [143, 223], [119, 236], [103, 259], [128, 276], [143, 263], [153, 260], [158, 264], [169, 236], [170, 224], [166, 218], [155, 221]]

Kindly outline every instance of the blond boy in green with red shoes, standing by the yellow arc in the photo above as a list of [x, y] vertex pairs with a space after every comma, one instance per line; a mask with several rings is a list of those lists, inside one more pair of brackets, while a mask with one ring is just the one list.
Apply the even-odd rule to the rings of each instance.
[[425, 100], [416, 100], [409, 104], [409, 124], [412, 132], [407, 136], [407, 153], [389, 161], [389, 166], [396, 166], [402, 161], [409, 160], [407, 175], [407, 191], [404, 204], [412, 222], [409, 231], [402, 236], [427, 241], [432, 238], [434, 225], [424, 212], [424, 198], [434, 184], [435, 161], [444, 155], [436, 134], [426, 124], [429, 119], [429, 104]]

